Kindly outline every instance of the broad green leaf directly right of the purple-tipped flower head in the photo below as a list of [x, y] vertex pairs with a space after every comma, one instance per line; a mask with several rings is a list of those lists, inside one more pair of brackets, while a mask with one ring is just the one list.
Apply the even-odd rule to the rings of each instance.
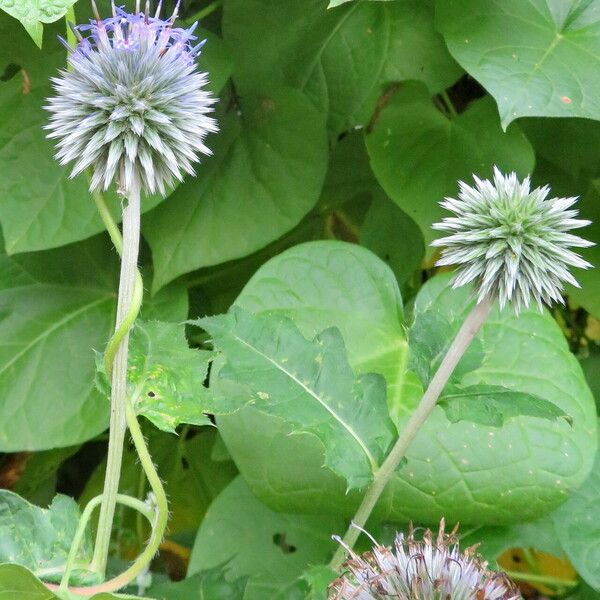
[[318, 200], [327, 165], [323, 118], [294, 90], [245, 99], [241, 116], [221, 121], [211, 147], [198, 177], [146, 217], [154, 290], [262, 248]]

